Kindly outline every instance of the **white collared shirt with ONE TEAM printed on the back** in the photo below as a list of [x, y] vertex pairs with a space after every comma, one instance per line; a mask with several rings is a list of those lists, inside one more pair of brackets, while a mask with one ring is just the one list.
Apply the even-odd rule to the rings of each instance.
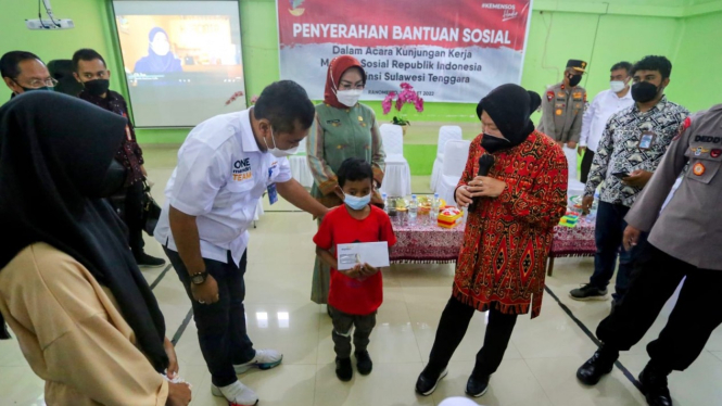
[[165, 205], [155, 239], [176, 248], [169, 206], [195, 216], [204, 258], [238, 264], [249, 244], [248, 229], [268, 186], [291, 180], [291, 166], [258, 149], [249, 110], [218, 115], [199, 124], [178, 151], [165, 188]]

